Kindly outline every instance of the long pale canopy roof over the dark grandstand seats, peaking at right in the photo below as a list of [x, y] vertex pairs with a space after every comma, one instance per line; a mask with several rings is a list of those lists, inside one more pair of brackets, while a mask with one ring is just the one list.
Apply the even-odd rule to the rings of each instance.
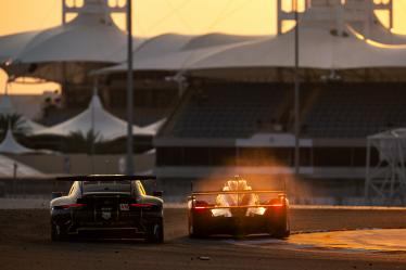
[[[322, 1], [301, 14], [300, 66], [302, 68], [353, 69], [405, 66], [406, 53], [402, 47], [378, 48], [361, 39], [359, 31], [364, 29], [364, 25], [359, 23], [361, 21], [358, 14], [359, 4], [361, 3], [355, 5], [347, 3], [343, 8], [340, 1], [329, 3]], [[363, 4], [367, 7], [367, 3]], [[368, 21], [370, 35], [377, 39], [389, 42], [391, 37], [399, 38], [392, 35], [381, 23], [375, 22], [375, 14], [366, 16], [366, 20], [370, 21]], [[338, 31], [339, 29], [345, 35]], [[182, 39], [186, 40], [187, 38]], [[277, 38], [208, 34], [190, 38], [178, 50], [173, 50], [177, 47], [170, 47], [170, 50], [156, 56], [157, 52], [154, 49], [158, 48], [158, 42], [167, 44], [173, 40], [164, 35], [144, 42], [141, 48], [148, 53], [141, 53], [142, 57], [135, 59], [135, 70], [289, 68], [294, 63], [294, 31]], [[152, 49], [149, 49], [150, 47]], [[126, 68], [127, 65], [122, 64], [101, 69], [96, 74], [123, 73]]]

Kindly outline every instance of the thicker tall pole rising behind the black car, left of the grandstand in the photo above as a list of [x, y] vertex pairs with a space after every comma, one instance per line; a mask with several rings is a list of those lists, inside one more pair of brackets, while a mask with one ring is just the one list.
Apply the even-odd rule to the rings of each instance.
[[134, 89], [132, 89], [132, 0], [127, 0], [127, 158], [126, 173], [134, 175], [132, 159], [132, 106], [134, 106]]

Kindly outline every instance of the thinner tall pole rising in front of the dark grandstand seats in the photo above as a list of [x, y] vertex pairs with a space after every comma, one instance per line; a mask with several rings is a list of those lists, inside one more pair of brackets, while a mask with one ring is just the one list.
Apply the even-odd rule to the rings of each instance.
[[301, 120], [300, 120], [300, 81], [299, 81], [299, 12], [297, 0], [294, 0], [294, 177], [297, 179], [300, 173], [300, 141]]

